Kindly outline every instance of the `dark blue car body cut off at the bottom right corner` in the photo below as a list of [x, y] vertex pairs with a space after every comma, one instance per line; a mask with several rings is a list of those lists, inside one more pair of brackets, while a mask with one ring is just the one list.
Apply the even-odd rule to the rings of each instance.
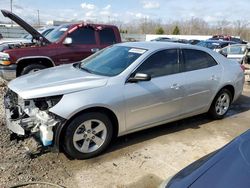
[[178, 172], [165, 188], [249, 188], [250, 130]]

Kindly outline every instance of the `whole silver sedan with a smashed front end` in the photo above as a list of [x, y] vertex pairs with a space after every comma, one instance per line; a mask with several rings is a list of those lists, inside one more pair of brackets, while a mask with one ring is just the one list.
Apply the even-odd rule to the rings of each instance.
[[206, 48], [121, 43], [11, 81], [7, 126], [85, 159], [116, 136], [206, 112], [221, 119], [243, 84], [237, 62]]

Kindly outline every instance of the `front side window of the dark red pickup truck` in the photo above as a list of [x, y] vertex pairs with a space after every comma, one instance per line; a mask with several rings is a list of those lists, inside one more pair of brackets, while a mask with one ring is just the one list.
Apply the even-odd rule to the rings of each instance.
[[72, 44], [96, 44], [95, 31], [92, 28], [78, 28], [69, 37], [72, 38]]

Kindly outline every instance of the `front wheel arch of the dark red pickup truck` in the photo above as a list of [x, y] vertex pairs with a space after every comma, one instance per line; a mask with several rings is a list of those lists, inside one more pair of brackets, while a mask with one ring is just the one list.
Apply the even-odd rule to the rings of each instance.
[[23, 57], [18, 59], [16, 64], [17, 64], [17, 72], [16, 72], [17, 77], [21, 75], [23, 68], [30, 64], [41, 64], [45, 65], [47, 68], [55, 66], [54, 61], [47, 56]]

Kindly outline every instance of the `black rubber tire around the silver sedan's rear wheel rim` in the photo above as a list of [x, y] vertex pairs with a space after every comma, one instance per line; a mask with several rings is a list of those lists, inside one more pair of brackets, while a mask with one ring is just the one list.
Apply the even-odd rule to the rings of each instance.
[[[223, 97], [223, 96], [228, 96], [229, 97], [229, 106], [225, 109], [225, 112], [223, 113], [219, 113], [217, 110], [216, 110], [216, 105], [218, 104], [218, 100], [220, 97]], [[211, 118], [213, 119], [222, 119], [226, 113], [228, 112], [229, 110], [229, 107], [232, 103], [232, 93], [228, 90], [228, 89], [221, 89], [219, 91], [219, 93], [215, 96], [214, 100], [213, 100], [213, 103], [212, 105], [210, 106], [210, 109], [208, 111], [209, 115], [211, 116]]]

